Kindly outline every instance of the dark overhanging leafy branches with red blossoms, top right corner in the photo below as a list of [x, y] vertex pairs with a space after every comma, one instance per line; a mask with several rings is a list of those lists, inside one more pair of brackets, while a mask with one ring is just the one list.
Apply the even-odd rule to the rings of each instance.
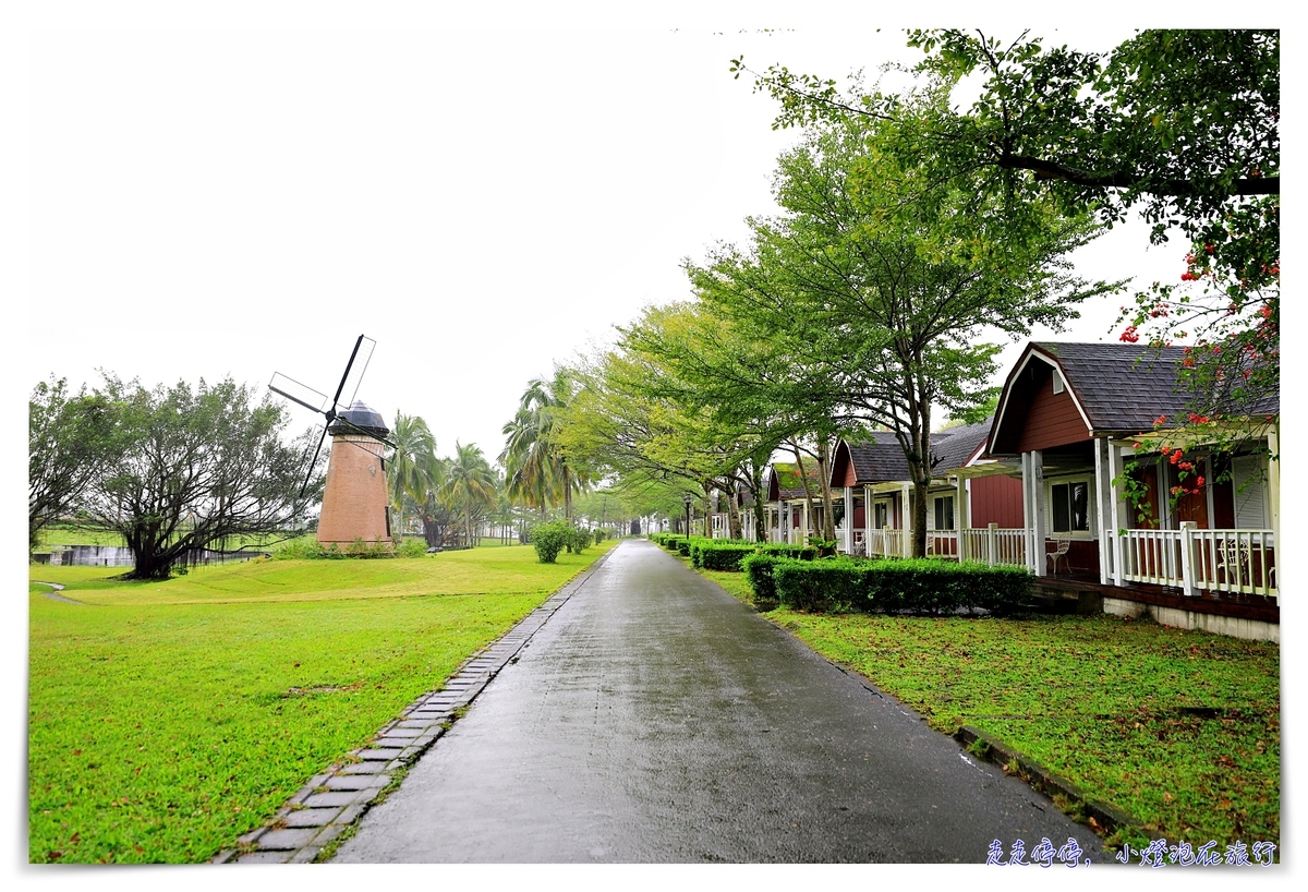
[[[1144, 30], [1109, 54], [1046, 48], [1024, 33], [910, 31], [920, 72], [982, 78], [965, 112], [922, 132], [974, 188], [1011, 212], [1028, 200], [1090, 209], [1105, 224], [1137, 208], [1162, 243], [1190, 242], [1181, 284], [1135, 294], [1122, 340], [1190, 339], [1192, 419], [1257, 413], [1279, 390], [1281, 58], [1269, 30]], [[749, 72], [743, 59], [736, 76]], [[833, 80], [772, 67], [755, 88], [777, 126], [901, 120], [895, 94], [842, 94]], [[980, 175], [977, 175], [980, 174]], [[1180, 260], [1181, 251], [1177, 252]], [[1184, 269], [1184, 271], [1182, 271]]]

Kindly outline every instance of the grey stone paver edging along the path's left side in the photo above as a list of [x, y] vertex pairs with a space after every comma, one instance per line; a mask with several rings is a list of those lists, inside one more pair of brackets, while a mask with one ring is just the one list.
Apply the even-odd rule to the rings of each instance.
[[439, 691], [429, 691], [409, 704], [400, 717], [382, 727], [373, 742], [315, 774], [283, 806], [273, 820], [220, 851], [212, 863], [306, 863], [345, 828], [357, 821], [391, 782], [391, 774], [417, 761], [500, 670], [608, 560], [615, 549], [573, 577], [540, 607], [527, 613], [502, 637], [475, 653]]

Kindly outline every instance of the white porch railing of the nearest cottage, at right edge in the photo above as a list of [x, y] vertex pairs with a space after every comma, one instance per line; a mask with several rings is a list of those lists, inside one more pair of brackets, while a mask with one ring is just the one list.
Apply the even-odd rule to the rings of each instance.
[[1271, 530], [1127, 530], [1118, 539], [1131, 582], [1278, 598]]

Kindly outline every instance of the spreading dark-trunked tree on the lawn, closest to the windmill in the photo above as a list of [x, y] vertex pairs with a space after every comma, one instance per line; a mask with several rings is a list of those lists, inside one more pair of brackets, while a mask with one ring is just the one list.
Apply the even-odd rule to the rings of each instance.
[[94, 522], [119, 532], [136, 566], [128, 578], [166, 578], [194, 549], [284, 531], [303, 518], [309, 438], [283, 442], [284, 408], [230, 378], [146, 391], [106, 381], [123, 407], [123, 450], [86, 490]]

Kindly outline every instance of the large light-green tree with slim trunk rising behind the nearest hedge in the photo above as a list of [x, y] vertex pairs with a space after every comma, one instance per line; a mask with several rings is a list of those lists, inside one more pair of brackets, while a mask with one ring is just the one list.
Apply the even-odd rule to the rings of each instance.
[[[1110, 288], [1069, 272], [1066, 254], [1093, 234], [1084, 214], [1052, 201], [1011, 209], [933, 150], [923, 133], [950, 114], [947, 85], [931, 84], [895, 119], [814, 124], [781, 158], [783, 214], [751, 220], [747, 252], [721, 247], [688, 267], [712, 314], [783, 345], [778, 362], [793, 357], [780, 366], [793, 374], [759, 377], [768, 399], [895, 432], [914, 484], [917, 555], [934, 407], [964, 413], [989, 399], [999, 345], [984, 335], [1057, 330]], [[725, 403], [712, 374], [700, 381]]]

